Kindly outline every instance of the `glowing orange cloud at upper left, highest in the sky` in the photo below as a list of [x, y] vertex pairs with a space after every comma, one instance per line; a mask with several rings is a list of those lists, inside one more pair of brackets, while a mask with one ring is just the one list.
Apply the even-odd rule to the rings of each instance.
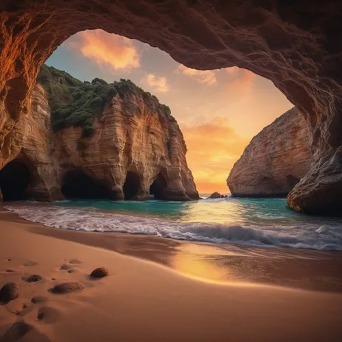
[[131, 40], [101, 29], [81, 31], [66, 44], [100, 66], [125, 71], [140, 67], [140, 55]]

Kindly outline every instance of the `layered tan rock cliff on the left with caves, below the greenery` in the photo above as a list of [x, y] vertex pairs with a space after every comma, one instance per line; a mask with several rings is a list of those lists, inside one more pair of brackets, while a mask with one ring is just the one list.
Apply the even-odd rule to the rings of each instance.
[[52, 131], [48, 96], [37, 83], [28, 113], [18, 118], [1, 149], [3, 199], [146, 200], [150, 193], [163, 200], [198, 199], [170, 109], [133, 83], [128, 86], [130, 92], [116, 92], [101, 115], [88, 120], [92, 133], [84, 136], [79, 126]]

